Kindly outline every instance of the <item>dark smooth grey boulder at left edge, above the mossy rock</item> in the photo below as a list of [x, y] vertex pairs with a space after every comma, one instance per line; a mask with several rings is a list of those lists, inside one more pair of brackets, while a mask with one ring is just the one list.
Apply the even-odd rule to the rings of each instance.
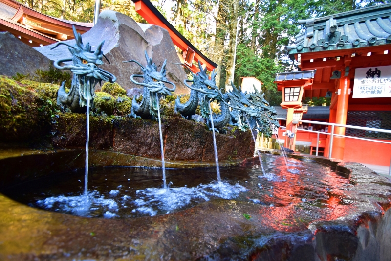
[[9, 32], [0, 32], [0, 61], [0, 75], [8, 77], [15, 76], [17, 72], [37, 76], [37, 69], [47, 71], [53, 63]]

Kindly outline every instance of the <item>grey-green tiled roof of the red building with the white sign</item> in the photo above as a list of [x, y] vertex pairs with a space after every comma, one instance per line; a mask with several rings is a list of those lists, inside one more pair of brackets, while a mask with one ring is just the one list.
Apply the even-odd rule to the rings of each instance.
[[295, 36], [296, 53], [350, 49], [391, 44], [391, 4], [352, 10], [321, 18], [299, 20], [306, 30]]

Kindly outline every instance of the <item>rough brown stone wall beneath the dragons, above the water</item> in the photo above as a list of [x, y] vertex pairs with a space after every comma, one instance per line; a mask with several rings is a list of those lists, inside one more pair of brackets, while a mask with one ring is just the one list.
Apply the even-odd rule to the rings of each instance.
[[[57, 119], [51, 142], [55, 147], [84, 147], [86, 116], [64, 114]], [[162, 135], [167, 160], [214, 161], [212, 132], [202, 123], [182, 118], [163, 118]], [[250, 132], [234, 129], [230, 135], [216, 134], [220, 160], [252, 156], [254, 142]], [[137, 156], [160, 158], [159, 125], [144, 119], [115, 119], [113, 123], [90, 118], [91, 149], [113, 149]]]

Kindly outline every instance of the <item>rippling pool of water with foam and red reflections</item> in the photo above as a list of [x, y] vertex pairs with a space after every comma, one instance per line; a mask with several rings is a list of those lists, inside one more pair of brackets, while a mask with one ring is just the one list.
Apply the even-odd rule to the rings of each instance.
[[[349, 180], [315, 162], [264, 155], [259, 164], [216, 169], [167, 169], [163, 188], [161, 169], [107, 167], [89, 169], [88, 197], [83, 194], [84, 169], [24, 183], [2, 191], [28, 204], [62, 213], [105, 218], [166, 214], [216, 199], [236, 199], [266, 206], [295, 202], [327, 206], [327, 191]], [[289, 167], [289, 169], [287, 169]], [[21, 191], [23, 191], [21, 193]], [[343, 201], [341, 201], [343, 203]], [[341, 204], [342, 204], [341, 203]]]

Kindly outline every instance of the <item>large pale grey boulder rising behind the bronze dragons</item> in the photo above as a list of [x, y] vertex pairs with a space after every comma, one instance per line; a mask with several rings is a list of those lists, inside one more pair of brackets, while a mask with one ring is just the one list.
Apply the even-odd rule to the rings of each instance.
[[[180, 60], [166, 29], [156, 25], [137, 24], [127, 15], [105, 10], [99, 15], [98, 23], [84, 33], [82, 38], [84, 44], [90, 43], [91, 50], [95, 50], [105, 40], [102, 50], [111, 64], [104, 60], [101, 68], [113, 73], [117, 77], [117, 83], [123, 88], [139, 88], [130, 82], [130, 75], [142, 74], [139, 65], [123, 61], [136, 60], [146, 65], [144, 50], [147, 50], [157, 65], [157, 70], [160, 70], [167, 59], [167, 78], [176, 85], [175, 93], [190, 93], [183, 84], [183, 80], [187, 79], [185, 71], [182, 66], [173, 64], [179, 63]], [[65, 42], [75, 44], [75, 40]], [[68, 47], [61, 45], [51, 50], [53, 47], [54, 45], [49, 45], [35, 49], [52, 61], [71, 57]]]

